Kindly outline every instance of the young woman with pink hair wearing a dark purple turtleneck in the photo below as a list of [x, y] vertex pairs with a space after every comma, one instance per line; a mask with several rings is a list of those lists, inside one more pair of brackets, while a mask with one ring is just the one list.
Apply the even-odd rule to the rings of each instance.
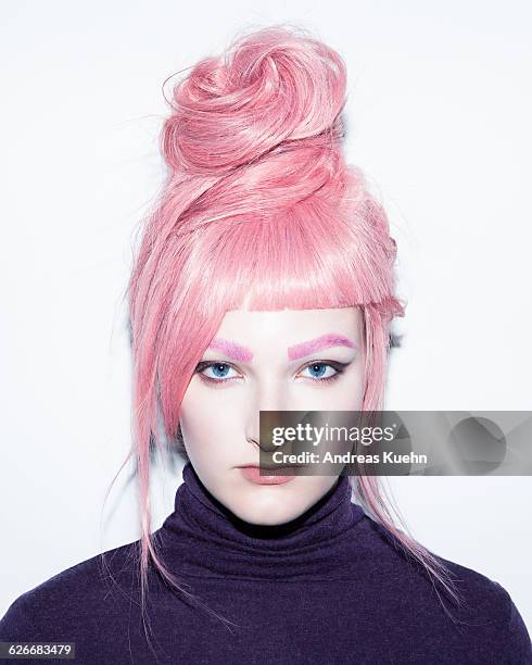
[[[176, 85], [128, 289], [141, 537], [21, 595], [0, 640], [90, 664], [532, 663], [507, 591], [398, 529], [378, 477], [256, 468], [259, 411], [384, 401], [404, 304], [385, 213], [342, 155], [345, 86], [337, 52], [283, 27]], [[183, 484], [152, 534], [166, 444]]]

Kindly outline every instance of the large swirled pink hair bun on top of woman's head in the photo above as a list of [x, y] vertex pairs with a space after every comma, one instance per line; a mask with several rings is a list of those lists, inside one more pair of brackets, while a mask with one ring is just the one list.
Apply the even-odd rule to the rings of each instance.
[[312, 37], [280, 27], [240, 37], [174, 87], [163, 155], [175, 171], [216, 175], [284, 140], [338, 138], [345, 85], [341, 57]]

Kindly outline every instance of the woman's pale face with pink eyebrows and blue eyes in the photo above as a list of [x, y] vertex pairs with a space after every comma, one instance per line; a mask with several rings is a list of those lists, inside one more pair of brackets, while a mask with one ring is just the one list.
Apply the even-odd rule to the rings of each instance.
[[259, 464], [259, 411], [358, 411], [365, 360], [359, 308], [227, 312], [180, 410], [187, 454], [211, 494], [257, 525], [314, 505], [338, 477], [262, 485], [241, 468]]

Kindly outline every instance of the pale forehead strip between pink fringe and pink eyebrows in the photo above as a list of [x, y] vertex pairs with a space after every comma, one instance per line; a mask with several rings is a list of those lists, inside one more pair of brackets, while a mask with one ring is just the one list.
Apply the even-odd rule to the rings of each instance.
[[226, 312], [215, 337], [250, 349], [267, 344], [286, 352], [288, 347], [322, 335], [341, 335], [358, 346], [363, 335], [360, 309], [231, 310]]

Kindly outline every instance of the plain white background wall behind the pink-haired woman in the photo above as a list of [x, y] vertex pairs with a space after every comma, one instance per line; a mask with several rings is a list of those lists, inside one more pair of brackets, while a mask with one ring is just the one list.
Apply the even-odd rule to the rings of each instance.
[[[161, 87], [238, 32], [294, 23], [347, 63], [346, 155], [387, 206], [408, 301], [388, 406], [531, 410], [530, 3], [18, 0], [0, 11], [0, 615], [138, 538], [130, 466], [103, 502], [129, 447], [123, 296], [163, 175]], [[154, 475], [153, 528], [180, 482], [180, 469]], [[531, 478], [391, 486], [413, 535], [502, 584], [532, 630]]]

